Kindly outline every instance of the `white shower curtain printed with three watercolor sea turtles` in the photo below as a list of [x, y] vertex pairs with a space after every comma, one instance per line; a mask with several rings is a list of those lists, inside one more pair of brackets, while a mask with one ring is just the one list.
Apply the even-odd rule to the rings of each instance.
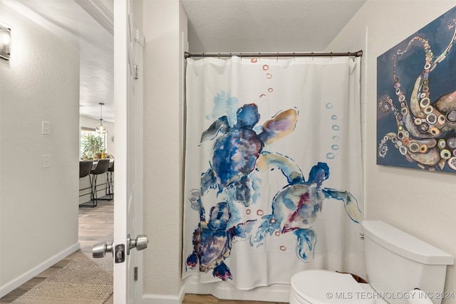
[[360, 58], [187, 60], [183, 277], [365, 278]]

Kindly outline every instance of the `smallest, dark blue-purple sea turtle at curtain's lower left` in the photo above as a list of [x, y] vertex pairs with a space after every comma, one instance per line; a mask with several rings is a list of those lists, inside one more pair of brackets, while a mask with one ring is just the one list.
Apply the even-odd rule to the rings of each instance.
[[193, 252], [187, 257], [186, 265], [193, 269], [199, 264], [199, 271], [203, 273], [212, 269], [213, 276], [222, 281], [232, 279], [231, 271], [224, 260], [231, 253], [233, 239], [246, 239], [256, 220], [228, 228], [231, 214], [226, 202], [212, 206], [209, 221], [206, 221], [199, 190], [192, 191], [190, 202], [192, 209], [199, 212], [199, 224], [193, 233]]

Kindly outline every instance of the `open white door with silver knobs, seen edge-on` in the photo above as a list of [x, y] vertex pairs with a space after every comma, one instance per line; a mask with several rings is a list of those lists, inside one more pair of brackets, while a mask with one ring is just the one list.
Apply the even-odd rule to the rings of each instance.
[[[114, 303], [142, 303], [142, 33], [133, 1], [114, 1]], [[130, 239], [128, 239], [130, 236]], [[122, 251], [122, 246], [124, 251]], [[132, 248], [130, 250], [130, 247]], [[138, 250], [137, 250], [138, 249]]]

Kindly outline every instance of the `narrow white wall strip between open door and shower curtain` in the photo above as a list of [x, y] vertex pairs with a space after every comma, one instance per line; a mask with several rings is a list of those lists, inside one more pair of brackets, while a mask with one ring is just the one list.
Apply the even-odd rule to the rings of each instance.
[[182, 300], [183, 70], [187, 17], [178, 0], [142, 1], [144, 303]]

